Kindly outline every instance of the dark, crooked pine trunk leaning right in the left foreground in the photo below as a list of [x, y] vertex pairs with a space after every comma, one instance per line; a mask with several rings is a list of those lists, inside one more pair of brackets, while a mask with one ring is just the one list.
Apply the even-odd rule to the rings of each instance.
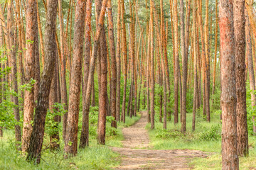
[[28, 161], [36, 159], [36, 163], [40, 163], [41, 150], [43, 146], [44, 127], [46, 123], [46, 113], [49, 106], [50, 84], [55, 67], [55, 58], [57, 45], [55, 41], [55, 25], [56, 25], [56, 8], [58, 1], [48, 0], [47, 13], [46, 13], [46, 31], [45, 31], [45, 66], [41, 84], [38, 93], [38, 103], [36, 106], [36, 113], [33, 122], [33, 131], [31, 141], [28, 148]]

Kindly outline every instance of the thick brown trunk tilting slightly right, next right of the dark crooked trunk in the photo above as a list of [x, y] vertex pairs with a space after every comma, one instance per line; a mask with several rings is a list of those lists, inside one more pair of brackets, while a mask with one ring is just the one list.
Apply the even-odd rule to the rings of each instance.
[[85, 0], [77, 1], [74, 31], [68, 118], [65, 132], [65, 152], [66, 154], [75, 156], [78, 153], [78, 115], [82, 80], [82, 50], [85, 33]]

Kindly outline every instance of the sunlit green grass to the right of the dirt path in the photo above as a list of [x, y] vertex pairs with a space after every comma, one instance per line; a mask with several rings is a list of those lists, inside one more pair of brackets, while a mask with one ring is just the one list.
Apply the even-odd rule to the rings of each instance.
[[[163, 123], [159, 122], [155, 123], [155, 130], [150, 130], [150, 124], [146, 125], [151, 145], [153, 149], [196, 149], [209, 152], [208, 158], [193, 159], [190, 165], [198, 170], [221, 169], [220, 114], [213, 113], [210, 123], [207, 123], [200, 115], [197, 115], [196, 119], [196, 131], [192, 132], [192, 114], [187, 114], [187, 132], [185, 134], [180, 132], [181, 123], [174, 125], [173, 121], [167, 123], [167, 130], [163, 130]], [[215, 129], [217, 130], [215, 131]], [[249, 136], [250, 155], [240, 158], [240, 169], [256, 167], [255, 141], [255, 136]]]

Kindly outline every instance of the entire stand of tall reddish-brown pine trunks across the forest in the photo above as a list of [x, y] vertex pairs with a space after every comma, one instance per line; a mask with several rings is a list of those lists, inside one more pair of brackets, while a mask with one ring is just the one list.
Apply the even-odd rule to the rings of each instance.
[[[174, 57], [172, 61], [174, 65], [173, 113], [176, 124], [178, 123], [178, 110], [180, 110], [181, 132], [186, 132], [186, 95], [190, 84], [193, 84], [191, 85], [193, 86], [193, 130], [196, 129], [196, 112], [201, 106], [203, 115], [206, 115], [206, 120], [210, 122], [210, 52], [211, 40], [213, 39], [210, 37], [210, 33], [213, 24], [212, 17], [209, 17], [208, 3], [206, 0], [206, 17], [203, 22], [201, 0], [193, 0], [193, 6], [191, 0], [186, 1], [186, 4], [183, 4], [183, 0], [181, 0], [179, 2], [179, 14], [178, 1], [170, 0], [171, 40]], [[74, 4], [75, 23], [72, 23]], [[216, 0], [212, 94], [215, 93], [219, 24], [223, 169], [228, 169], [228, 167], [238, 169], [238, 156], [248, 154], [245, 82], [246, 70], [248, 69], [250, 89], [255, 90], [255, 70], [253, 68], [255, 46], [252, 46], [255, 45], [256, 40], [256, 19], [251, 0], [247, 0], [246, 5], [245, 0], [234, 2], [220, 0], [219, 16], [217, 4], [218, 1]], [[4, 18], [6, 7], [7, 23]], [[67, 155], [77, 154], [81, 86], [82, 132], [79, 147], [84, 148], [89, 145], [89, 112], [94, 95], [96, 66], [99, 82], [97, 141], [100, 145], [105, 145], [106, 116], [112, 115], [114, 120], [111, 125], [113, 128], [117, 128], [117, 121], [125, 123], [126, 115], [131, 117], [137, 115], [142, 102], [140, 101], [141, 96], [145, 98], [144, 106], [147, 106], [148, 122], [151, 123], [151, 129], [154, 129], [155, 84], [163, 87], [163, 93], [159, 94], [161, 98], [159, 119], [162, 122], [162, 118], [164, 118], [163, 128], [166, 129], [166, 121], [171, 118], [170, 98], [172, 94], [167, 49], [169, 28], [168, 21], [164, 17], [163, 0], [160, 0], [159, 6], [154, 0], [149, 0], [149, 3], [146, 0], [146, 9], [149, 10], [146, 29], [142, 27], [139, 21], [138, 1], [129, 0], [129, 23], [127, 23], [124, 0], [117, 0], [117, 39], [114, 38], [114, 14], [111, 0], [95, 0], [95, 33], [93, 33], [91, 26], [91, 0], [78, 0], [76, 3], [70, 0], [66, 30], [64, 30], [62, 1], [48, 0], [45, 3], [44, 41], [38, 1], [27, 0], [26, 8], [22, 9], [20, 0], [16, 0], [15, 3], [8, 0], [6, 7], [0, 8], [0, 45], [6, 45], [8, 49], [6, 52], [8, 60], [2, 67], [11, 67], [11, 73], [7, 74], [4, 79], [10, 82], [11, 90], [15, 91], [16, 94], [21, 94], [21, 98], [23, 98], [23, 103], [18, 103], [18, 96], [14, 95], [11, 96], [11, 101], [16, 106], [23, 106], [21, 107], [23, 109], [22, 137], [20, 126], [15, 126], [15, 132], [16, 141], [20, 142], [22, 139], [21, 149], [23, 152], [28, 152], [28, 160], [36, 159], [37, 163], [40, 162], [46, 114], [48, 109], [50, 111], [55, 109], [54, 103], [60, 102], [68, 111], [62, 118], [65, 152]], [[184, 10], [185, 7], [186, 11]], [[193, 18], [191, 19], [192, 10]], [[22, 21], [23, 12], [26, 13], [26, 31]], [[107, 30], [105, 29], [105, 13], [107, 13]], [[60, 23], [60, 43], [56, 33], [57, 16]], [[178, 16], [180, 16], [179, 20]], [[218, 17], [220, 18], [219, 21]], [[180, 29], [178, 29], [178, 21], [180, 21]], [[192, 26], [190, 26], [191, 23]], [[73, 45], [71, 45], [73, 24]], [[68, 26], [70, 26], [70, 33], [68, 33]], [[139, 30], [138, 41], [137, 30]], [[127, 43], [127, 35], [129, 43]], [[115, 40], [117, 40], [116, 43]], [[127, 52], [127, 44], [129, 52]], [[84, 46], [85, 50], [83, 50]], [[24, 50], [25, 48], [26, 50]], [[19, 51], [18, 69], [17, 49]], [[84, 54], [83, 51], [85, 51]], [[179, 54], [181, 54], [181, 64]], [[245, 57], [248, 62], [247, 68]], [[42, 74], [40, 63], [43, 65]], [[67, 70], [70, 72], [69, 96], [66, 81]], [[18, 92], [17, 72], [21, 84], [33, 84], [33, 80], [36, 81], [32, 89]], [[121, 73], [124, 74], [122, 102]], [[108, 77], [110, 99], [107, 94]], [[131, 79], [131, 84], [128, 84], [129, 79]], [[128, 86], [130, 88], [129, 96], [127, 96]], [[146, 87], [146, 90], [143, 90], [143, 86]], [[252, 106], [255, 106], [255, 94], [251, 93], [251, 97]], [[129, 98], [128, 102], [127, 98]], [[122, 108], [120, 108], [121, 103]], [[178, 109], [178, 103], [180, 103], [180, 109]], [[20, 110], [18, 107], [14, 108], [14, 115], [15, 119], [19, 121]], [[60, 117], [56, 116], [54, 120], [60, 122]], [[255, 127], [254, 132], [256, 132]], [[50, 139], [52, 147], [58, 148], [58, 142], [54, 142], [59, 140], [58, 133], [53, 134]], [[233, 147], [230, 147], [230, 144]]]

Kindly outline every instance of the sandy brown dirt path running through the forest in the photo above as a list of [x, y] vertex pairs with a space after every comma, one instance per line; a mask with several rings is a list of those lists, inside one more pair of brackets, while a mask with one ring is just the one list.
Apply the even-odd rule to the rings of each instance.
[[122, 130], [123, 147], [112, 148], [122, 155], [122, 163], [116, 169], [190, 169], [188, 163], [194, 157], [206, 157], [206, 153], [196, 150], [153, 150], [150, 149], [149, 135], [145, 130], [146, 112], [129, 128]]

